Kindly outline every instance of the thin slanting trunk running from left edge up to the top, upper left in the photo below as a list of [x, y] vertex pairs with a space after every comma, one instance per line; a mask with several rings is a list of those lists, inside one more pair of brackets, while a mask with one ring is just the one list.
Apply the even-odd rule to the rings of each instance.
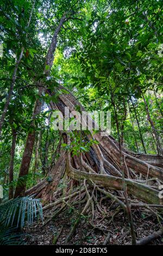
[[[32, 11], [30, 13], [30, 17], [29, 17], [27, 28], [29, 27], [30, 21], [32, 19], [34, 5], [35, 5], [35, 0], [34, 0], [34, 3], [33, 3]], [[28, 36], [28, 34], [26, 35], [26, 38], [27, 38], [27, 36]], [[7, 99], [5, 101], [3, 112], [2, 112], [2, 115], [1, 115], [1, 119], [0, 119], [0, 138], [1, 138], [1, 135], [2, 135], [2, 126], [3, 126], [3, 123], [4, 123], [5, 115], [6, 115], [7, 111], [8, 111], [9, 103], [10, 103], [11, 96], [12, 96], [13, 89], [14, 89], [14, 84], [15, 84], [15, 81], [16, 81], [17, 69], [18, 69], [18, 66], [19, 66], [19, 64], [20, 64], [20, 62], [22, 60], [23, 52], [24, 52], [24, 47], [22, 47], [20, 56], [16, 60], [15, 69], [14, 69], [14, 72], [13, 72], [13, 75], [12, 75], [11, 84], [10, 84], [10, 88], [9, 88], [9, 91], [8, 91], [8, 96], [7, 96]]]

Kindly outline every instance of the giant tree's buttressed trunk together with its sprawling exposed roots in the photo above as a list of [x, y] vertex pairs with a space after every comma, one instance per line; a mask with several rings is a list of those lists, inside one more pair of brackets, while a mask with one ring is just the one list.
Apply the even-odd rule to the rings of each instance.
[[[60, 86], [60, 89], [65, 88]], [[47, 90], [47, 93], [52, 95], [49, 90]], [[64, 107], [69, 107], [70, 111], [74, 111], [77, 105], [84, 111], [84, 108], [70, 92], [66, 94], [66, 96], [60, 95], [57, 103], [50, 103], [52, 110], [59, 109], [63, 114]], [[60, 133], [64, 138], [64, 143], [70, 145], [71, 131]], [[81, 166], [78, 156], [73, 156], [70, 151], [62, 150], [59, 159], [48, 172], [48, 176], [51, 177], [52, 182], [48, 183], [47, 179], [44, 179], [39, 182], [39, 184], [26, 191], [26, 194], [35, 194], [35, 197], [42, 198], [44, 204], [43, 211], [49, 209], [55, 210], [50, 220], [55, 221], [54, 216], [58, 216], [61, 212], [70, 207], [76, 212], [78, 217], [66, 236], [65, 244], [71, 241], [80, 223], [79, 212], [75, 210], [73, 206], [78, 205], [79, 200], [81, 204], [85, 203], [81, 213], [83, 216], [91, 209], [91, 221], [89, 221], [89, 223], [93, 229], [97, 228], [98, 230], [101, 229], [101, 231], [107, 231], [107, 229], [95, 225], [93, 221], [96, 220], [97, 216], [101, 217], [102, 220], [108, 217], [110, 219], [109, 212], [113, 205], [115, 207], [114, 210], [116, 210], [108, 224], [114, 224], [114, 217], [118, 215], [122, 209], [124, 212], [127, 212], [122, 186], [122, 166], [125, 174], [124, 181], [129, 196], [128, 200], [132, 210], [148, 208], [148, 210], [152, 212], [152, 208], [162, 209], [163, 206], [163, 200], [159, 198], [159, 190], [157, 189], [158, 186], [163, 183], [163, 157], [135, 154], [124, 148], [122, 148], [120, 154], [120, 149], [115, 139], [109, 135], [101, 136], [100, 132], [93, 135], [90, 133], [88, 135], [82, 131], [82, 139], [84, 141], [96, 139], [98, 144], [93, 144], [89, 152], [85, 154], [82, 153]], [[67, 179], [66, 190], [57, 190], [59, 181], [62, 174], [65, 173], [65, 170], [70, 180]], [[151, 178], [148, 179], [148, 177]], [[80, 179], [83, 183], [81, 191], [79, 191], [78, 187]], [[152, 186], [154, 186], [154, 188]], [[108, 200], [110, 204], [109, 210], [101, 207], [101, 204], [98, 202], [97, 194], [104, 194], [106, 196], [105, 200]], [[135, 198], [137, 199], [136, 202]], [[162, 234], [161, 231], [152, 237], [158, 237], [160, 234]], [[105, 237], [104, 245], [109, 242], [109, 238], [110, 233], [108, 232], [108, 235]], [[147, 240], [149, 241], [149, 239]], [[143, 241], [137, 243], [143, 243]]]

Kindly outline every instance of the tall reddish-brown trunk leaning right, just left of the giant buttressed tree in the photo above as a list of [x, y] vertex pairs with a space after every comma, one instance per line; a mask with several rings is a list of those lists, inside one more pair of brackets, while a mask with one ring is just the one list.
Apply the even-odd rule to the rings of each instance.
[[[66, 14], [64, 14], [62, 16], [58, 27], [55, 29], [55, 32], [54, 32], [54, 35], [53, 35], [53, 38], [51, 41], [51, 45], [49, 46], [49, 50], [47, 52], [46, 61], [45, 61], [45, 69], [43, 71], [43, 74], [45, 75], [45, 77], [47, 77], [50, 74], [53, 60], [54, 60], [54, 52], [57, 47], [58, 34], [59, 34], [60, 29], [65, 21], [66, 21]], [[41, 81], [39, 82], [39, 86], [40, 86], [39, 87], [39, 95], [41, 96], [42, 94], [45, 93], [46, 87], [44, 86], [44, 84]], [[21, 177], [27, 175], [28, 171], [29, 171], [30, 160], [32, 157], [34, 142], [35, 142], [35, 133], [36, 133], [35, 132], [35, 130], [36, 130], [35, 119], [37, 118], [37, 115], [39, 115], [41, 113], [41, 106], [42, 106], [42, 101], [40, 99], [37, 99], [36, 103], [35, 103], [35, 108], [33, 111], [33, 117], [32, 117], [31, 127], [33, 127], [33, 129], [32, 129], [32, 131], [28, 132], [26, 146], [24, 149], [20, 173], [19, 173], [18, 178], [21, 178]], [[17, 183], [15, 195], [14, 195], [15, 198], [23, 197], [23, 195], [26, 191], [26, 183], [27, 183], [26, 179], [24, 179], [24, 181], [21, 182], [21, 184], [20, 184], [20, 182]]]

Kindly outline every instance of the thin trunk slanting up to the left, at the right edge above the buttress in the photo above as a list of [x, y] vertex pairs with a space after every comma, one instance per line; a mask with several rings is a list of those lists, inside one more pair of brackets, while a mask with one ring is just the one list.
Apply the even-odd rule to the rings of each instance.
[[[140, 90], [140, 92], [141, 92], [141, 90]], [[152, 128], [152, 131], [153, 131], [153, 134], [154, 134], [154, 137], [155, 137], [156, 148], [157, 148], [158, 154], [161, 155], [161, 144], [160, 144], [159, 134], [158, 134], [158, 132], [157, 132], [156, 129], [155, 129], [153, 120], [152, 120], [152, 118], [151, 118], [151, 114], [149, 113], [149, 108], [148, 108], [147, 101], [146, 101], [146, 99], [145, 99], [145, 95], [144, 95], [142, 92], [141, 92], [141, 94], [142, 94], [143, 101], [144, 101], [144, 103], [145, 103], [145, 109], [146, 109], [146, 113], [147, 113], [147, 119], [148, 119], [149, 123], [151, 124], [151, 128]]]

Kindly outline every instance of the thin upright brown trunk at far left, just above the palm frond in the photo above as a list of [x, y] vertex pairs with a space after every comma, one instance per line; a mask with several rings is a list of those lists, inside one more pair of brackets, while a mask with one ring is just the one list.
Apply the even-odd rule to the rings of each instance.
[[16, 147], [16, 131], [12, 130], [12, 146], [10, 154], [10, 168], [9, 168], [9, 199], [13, 198], [13, 178], [14, 178], [14, 156], [15, 156], [15, 147]]

